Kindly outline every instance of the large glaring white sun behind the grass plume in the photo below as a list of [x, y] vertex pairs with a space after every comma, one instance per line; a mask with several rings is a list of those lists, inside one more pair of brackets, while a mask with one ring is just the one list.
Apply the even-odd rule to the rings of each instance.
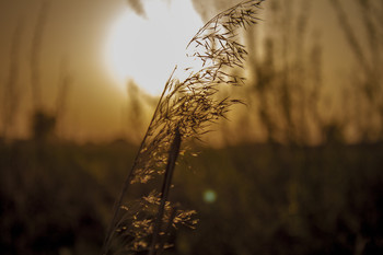
[[105, 56], [118, 88], [125, 91], [134, 80], [147, 93], [159, 95], [202, 21], [192, 0], [142, 2], [144, 15], [127, 9], [113, 23]]

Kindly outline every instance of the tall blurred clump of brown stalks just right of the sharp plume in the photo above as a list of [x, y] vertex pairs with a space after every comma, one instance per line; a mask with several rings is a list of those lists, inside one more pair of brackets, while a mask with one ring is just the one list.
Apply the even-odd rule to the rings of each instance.
[[254, 137], [248, 132], [255, 129], [256, 139], [270, 143], [314, 144], [322, 138], [323, 83], [318, 33], [310, 36], [312, 2], [269, 3], [266, 32], [254, 27], [246, 34], [251, 81], [242, 92], [254, 114], [244, 114], [242, 123], [252, 129], [243, 137]]

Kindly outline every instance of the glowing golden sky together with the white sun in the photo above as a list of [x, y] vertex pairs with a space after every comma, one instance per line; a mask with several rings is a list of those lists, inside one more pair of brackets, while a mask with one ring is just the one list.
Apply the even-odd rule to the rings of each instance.
[[[0, 3], [0, 54], [3, 56], [0, 62], [2, 97], [5, 96], [4, 88], [10, 77], [11, 60], [14, 58], [11, 55], [13, 38], [15, 33], [20, 34], [20, 47], [15, 49], [16, 59], [13, 59], [16, 66], [14, 88], [19, 105], [11, 128], [12, 137], [27, 137], [30, 132], [28, 121], [33, 112], [31, 50], [42, 2], [44, 1], [14, 0]], [[155, 105], [153, 95], [161, 92], [164, 81], [176, 62], [175, 58], [170, 58], [170, 54], [179, 54], [185, 49], [190, 39], [188, 36], [197, 32], [196, 30], [190, 33], [190, 30], [199, 24], [200, 20], [207, 21], [211, 13], [217, 13], [235, 3], [235, 1], [213, 0], [194, 0], [193, 2], [143, 0], [141, 4], [139, 4], [140, 1], [124, 0], [47, 2], [49, 8], [44, 26], [39, 31], [42, 36], [37, 55], [42, 105], [50, 113], [56, 112], [60, 79], [62, 81], [62, 77], [69, 77], [65, 109], [58, 121], [57, 132], [61, 138], [80, 141], [109, 140], [130, 132], [130, 120], [127, 114], [131, 107], [131, 98], [126, 89], [129, 79], [141, 86], [142, 93], [147, 91], [150, 94], [140, 94], [138, 98], [148, 112], [141, 124], [141, 128], [144, 128], [147, 118], [151, 115], [150, 111]], [[132, 5], [132, 2], [138, 5]], [[272, 31], [269, 28], [278, 27], [276, 24], [283, 20], [283, 16], [270, 16], [275, 13], [272, 12], [275, 2], [280, 1], [266, 1], [263, 4], [264, 10], [259, 14], [263, 21], [257, 24], [257, 36], [267, 34], [272, 37], [275, 34], [282, 33], [276, 28]], [[291, 7], [297, 7], [291, 12], [293, 16], [300, 14], [300, 5], [305, 4], [304, 2], [291, 3]], [[307, 36], [304, 43], [310, 45], [317, 43], [321, 46], [325, 84], [321, 93], [328, 98], [334, 95], [343, 96], [344, 90], [338, 84], [348, 82], [346, 79], [355, 57], [349, 50], [329, 1], [311, 1], [310, 5], [307, 26], [304, 32]], [[358, 8], [355, 4], [344, 5], [348, 15], [358, 14]], [[201, 18], [197, 16], [197, 13]], [[359, 31], [361, 22], [357, 21], [351, 20], [351, 23], [355, 30]], [[18, 25], [20, 30], [15, 32]], [[170, 42], [174, 44], [170, 45]], [[257, 54], [264, 56], [266, 51], [260, 50], [264, 44], [258, 42], [255, 46], [259, 49]], [[302, 50], [302, 55], [306, 56], [309, 53]], [[258, 58], [263, 58], [259, 56]], [[62, 62], [66, 63], [62, 65]], [[151, 91], [152, 86], [149, 84], [153, 83], [158, 85]], [[329, 115], [335, 116], [336, 112], [341, 112], [339, 107], [341, 100], [325, 102], [321, 103], [321, 107], [328, 107], [326, 112], [332, 113]], [[1, 116], [4, 116], [5, 108], [3, 106], [1, 108]], [[256, 132], [257, 136], [263, 136], [262, 131]]]

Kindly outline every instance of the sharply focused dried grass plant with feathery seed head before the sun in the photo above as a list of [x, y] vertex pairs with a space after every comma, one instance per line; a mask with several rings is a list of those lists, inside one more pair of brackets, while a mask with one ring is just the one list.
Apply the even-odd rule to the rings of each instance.
[[[177, 157], [186, 152], [185, 141], [200, 139], [209, 126], [225, 118], [239, 100], [220, 98], [223, 85], [239, 86], [244, 78], [233, 70], [243, 68], [247, 51], [239, 32], [257, 23], [264, 0], [243, 1], [211, 19], [187, 45], [190, 66], [176, 67], [167, 80], [131, 170], [115, 202], [114, 216], [102, 254], [159, 254], [167, 246], [173, 227], [194, 227], [194, 210], [181, 210], [169, 200]], [[179, 74], [178, 71], [181, 71]], [[184, 77], [184, 78], [181, 78]], [[129, 187], [164, 176], [160, 192], [152, 190], [128, 201]]]

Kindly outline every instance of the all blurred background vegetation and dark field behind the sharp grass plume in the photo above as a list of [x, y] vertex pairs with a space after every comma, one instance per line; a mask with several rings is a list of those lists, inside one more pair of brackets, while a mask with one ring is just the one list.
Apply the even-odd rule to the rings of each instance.
[[[324, 78], [310, 1], [270, 1], [271, 32], [254, 27], [244, 36], [247, 85], [222, 92], [247, 107], [233, 111], [207, 137], [211, 143], [176, 169], [171, 197], [200, 221], [174, 234], [169, 254], [383, 254], [383, 4], [355, 0], [360, 16], [350, 21], [340, 1], [329, 2], [355, 56], [350, 72], [340, 82]], [[126, 137], [63, 140], [71, 84], [63, 63], [56, 111], [40, 107], [35, 76], [30, 139], [9, 138], [22, 93], [12, 61], [20, 30], [2, 84], [0, 252], [96, 254], [153, 98], [129, 83]], [[36, 32], [36, 53], [38, 40]]]

